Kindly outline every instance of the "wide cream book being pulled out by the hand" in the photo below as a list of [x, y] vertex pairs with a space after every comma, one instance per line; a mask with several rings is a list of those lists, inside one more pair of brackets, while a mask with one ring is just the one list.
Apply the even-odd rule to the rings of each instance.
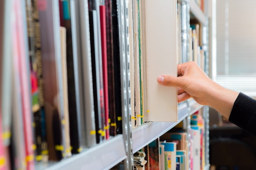
[[177, 88], [157, 77], [177, 76], [177, 2], [141, 0], [141, 32], [145, 121], [175, 122]]

